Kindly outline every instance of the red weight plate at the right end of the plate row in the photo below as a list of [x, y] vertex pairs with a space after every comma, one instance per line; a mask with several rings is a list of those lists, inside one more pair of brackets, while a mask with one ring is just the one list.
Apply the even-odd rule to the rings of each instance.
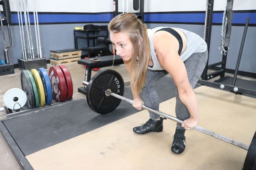
[[66, 65], [59, 65], [58, 67], [61, 68], [61, 71], [65, 77], [65, 81], [67, 85], [67, 100], [71, 100], [73, 96], [73, 82], [72, 82], [70, 72], [68, 71]]

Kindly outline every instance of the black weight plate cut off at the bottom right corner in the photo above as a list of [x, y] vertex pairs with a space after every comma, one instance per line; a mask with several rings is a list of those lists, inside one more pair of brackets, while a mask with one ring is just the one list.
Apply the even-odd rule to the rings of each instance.
[[252, 142], [250, 143], [243, 170], [253, 170], [253, 165], [256, 167], [256, 132], [254, 133]]

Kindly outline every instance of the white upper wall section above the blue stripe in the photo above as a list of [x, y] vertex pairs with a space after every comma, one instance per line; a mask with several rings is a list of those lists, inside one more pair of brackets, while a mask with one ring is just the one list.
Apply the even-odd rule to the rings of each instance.
[[[33, 0], [27, 0], [32, 11]], [[113, 0], [36, 0], [38, 12], [112, 12]], [[17, 11], [16, 0], [9, 0]], [[144, 12], [205, 11], [207, 0], [144, 0]], [[214, 11], [223, 11], [226, 0], [214, 0]], [[124, 4], [124, 10], [123, 10]], [[127, 10], [128, 6], [128, 10]], [[233, 10], [256, 10], [256, 0], [234, 0]], [[136, 12], [133, 0], [119, 0], [119, 12]]]

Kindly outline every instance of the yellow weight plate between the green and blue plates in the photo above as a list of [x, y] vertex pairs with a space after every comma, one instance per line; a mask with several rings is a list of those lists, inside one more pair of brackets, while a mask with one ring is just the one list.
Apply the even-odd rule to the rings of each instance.
[[36, 69], [30, 70], [34, 80], [35, 80], [35, 85], [38, 91], [38, 96], [39, 96], [39, 104], [40, 106], [45, 105], [45, 94], [44, 94], [44, 85], [41, 80], [41, 77]]

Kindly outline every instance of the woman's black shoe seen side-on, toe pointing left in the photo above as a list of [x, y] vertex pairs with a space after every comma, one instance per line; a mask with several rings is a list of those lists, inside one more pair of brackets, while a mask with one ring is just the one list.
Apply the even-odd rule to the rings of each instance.
[[133, 131], [138, 134], [145, 134], [148, 132], [162, 132], [163, 131], [163, 120], [165, 117], [161, 117], [160, 120], [148, 119], [148, 121], [138, 127], [134, 127]]

